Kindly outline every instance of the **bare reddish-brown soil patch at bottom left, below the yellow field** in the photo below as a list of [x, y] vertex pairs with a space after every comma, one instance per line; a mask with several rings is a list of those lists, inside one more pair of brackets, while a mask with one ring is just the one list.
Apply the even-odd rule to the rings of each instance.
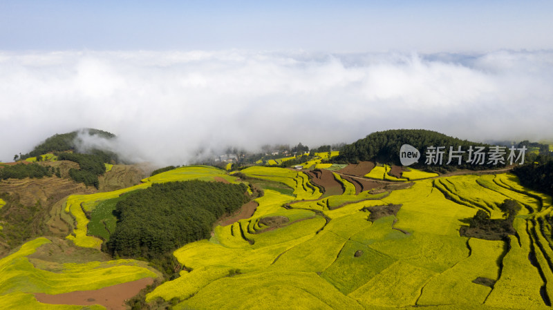
[[79, 306], [100, 304], [108, 310], [125, 310], [125, 300], [133, 298], [141, 289], [152, 283], [153, 278], [143, 278], [95, 291], [74, 291], [57, 295], [35, 293], [35, 297], [39, 302], [46, 304], [77, 304]]

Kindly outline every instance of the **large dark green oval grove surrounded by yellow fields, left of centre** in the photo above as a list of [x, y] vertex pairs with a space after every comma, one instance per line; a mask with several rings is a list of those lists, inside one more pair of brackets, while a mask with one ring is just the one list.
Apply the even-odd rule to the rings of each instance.
[[247, 202], [244, 184], [169, 182], [137, 191], [115, 206], [115, 231], [106, 243], [112, 255], [158, 259], [178, 247], [209, 238], [219, 217]]

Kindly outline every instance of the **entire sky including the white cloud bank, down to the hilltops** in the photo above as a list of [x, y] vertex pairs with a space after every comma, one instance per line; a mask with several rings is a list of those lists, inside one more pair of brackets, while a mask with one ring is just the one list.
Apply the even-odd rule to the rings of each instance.
[[0, 162], [82, 127], [161, 166], [391, 128], [553, 141], [552, 21], [553, 1], [0, 0]]

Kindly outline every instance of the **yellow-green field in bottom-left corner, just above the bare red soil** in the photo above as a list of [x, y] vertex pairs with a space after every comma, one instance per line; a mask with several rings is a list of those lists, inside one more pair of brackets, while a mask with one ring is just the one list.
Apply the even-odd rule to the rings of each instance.
[[[29, 258], [50, 242], [46, 238], [32, 240], [0, 260], [1, 309], [81, 309], [78, 306], [41, 304], [34, 294], [95, 290], [141, 278], [158, 277], [157, 273], [147, 268], [147, 264], [135, 260], [59, 264]], [[94, 306], [91, 309], [104, 307]]]

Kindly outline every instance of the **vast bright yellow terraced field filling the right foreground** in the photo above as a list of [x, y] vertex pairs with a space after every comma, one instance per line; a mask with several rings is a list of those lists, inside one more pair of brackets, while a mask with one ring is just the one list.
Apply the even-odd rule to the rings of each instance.
[[[267, 180], [294, 177], [294, 171], [249, 169]], [[538, 200], [538, 193], [505, 174], [420, 180], [378, 195], [355, 195], [353, 184], [337, 180], [344, 193], [319, 200], [298, 202], [265, 191], [250, 219], [176, 251], [191, 271], [147, 300], [179, 298], [175, 309], [549, 308], [550, 225], [538, 214], [549, 214], [543, 210], [551, 211], [550, 197]], [[444, 188], [456, 198], [447, 199]], [[507, 198], [542, 210], [517, 215], [516, 231], [527, 236], [520, 246], [514, 235], [506, 241], [459, 235], [478, 210], [502, 217], [498, 204]], [[377, 208], [398, 204], [395, 215], [370, 220], [371, 208], [377, 214]]]

